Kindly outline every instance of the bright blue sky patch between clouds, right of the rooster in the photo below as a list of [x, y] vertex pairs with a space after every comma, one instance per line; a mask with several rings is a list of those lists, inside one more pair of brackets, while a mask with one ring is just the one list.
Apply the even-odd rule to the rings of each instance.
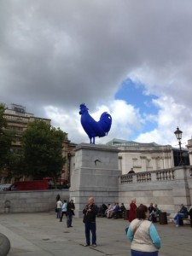
[[142, 128], [143, 130], [142, 132], [152, 131], [154, 130], [154, 128], [157, 127], [157, 123], [155, 119], [153, 118], [148, 119], [148, 116], [150, 117], [155, 116], [160, 109], [160, 108], [157, 108], [153, 103], [153, 100], [157, 98], [158, 98], [157, 96], [147, 95], [145, 93], [144, 84], [135, 83], [129, 78], [125, 79], [121, 83], [119, 90], [115, 94], [115, 99], [123, 100], [127, 102], [127, 104], [131, 104], [134, 108], [139, 109], [139, 113], [141, 114], [142, 118], [145, 120], [145, 123], [143, 124], [143, 128]]

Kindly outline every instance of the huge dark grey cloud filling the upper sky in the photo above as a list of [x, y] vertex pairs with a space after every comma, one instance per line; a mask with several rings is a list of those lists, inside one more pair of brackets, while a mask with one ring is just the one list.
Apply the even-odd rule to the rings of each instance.
[[49, 105], [94, 109], [147, 66], [147, 90], [192, 108], [191, 10], [189, 0], [1, 1], [0, 101], [37, 115]]

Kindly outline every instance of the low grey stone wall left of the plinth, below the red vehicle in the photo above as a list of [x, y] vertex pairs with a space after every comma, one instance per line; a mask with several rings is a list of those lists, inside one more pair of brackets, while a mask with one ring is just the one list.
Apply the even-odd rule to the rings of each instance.
[[0, 192], [0, 213], [52, 211], [58, 194], [61, 200], [69, 199], [68, 189]]

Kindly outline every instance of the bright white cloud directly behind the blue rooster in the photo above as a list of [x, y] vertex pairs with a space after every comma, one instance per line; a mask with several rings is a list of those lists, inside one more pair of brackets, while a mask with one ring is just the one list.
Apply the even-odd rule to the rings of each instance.
[[[89, 106], [87, 106], [89, 108]], [[83, 127], [80, 123], [79, 108], [74, 111], [68, 111], [67, 109], [61, 110], [49, 106], [45, 108], [46, 115], [52, 120], [52, 124], [55, 127], [60, 127], [61, 130], [68, 133], [69, 139], [73, 138], [73, 143], [89, 143], [90, 140], [86, 135]], [[112, 116], [112, 127], [108, 132], [107, 137], [96, 137], [96, 143], [107, 143], [113, 137], [128, 138], [133, 130], [139, 130], [141, 128], [141, 117], [138, 110], [131, 105], [126, 104], [124, 101], [113, 101], [109, 103], [109, 107], [101, 105], [96, 109], [96, 112], [92, 112], [89, 109], [89, 113], [96, 121], [99, 121], [103, 112], [108, 112]]]

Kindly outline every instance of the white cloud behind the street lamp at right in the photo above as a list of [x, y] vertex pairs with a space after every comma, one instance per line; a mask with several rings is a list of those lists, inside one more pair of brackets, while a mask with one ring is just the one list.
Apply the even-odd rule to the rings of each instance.
[[153, 131], [140, 134], [136, 140], [138, 142], [155, 142], [160, 144], [177, 145], [177, 139], [174, 135], [177, 126], [183, 131], [183, 146], [186, 145], [190, 139], [191, 134], [191, 122], [186, 122], [187, 119], [191, 119], [191, 113], [189, 108], [184, 105], [177, 104], [172, 97], [160, 97], [154, 100], [154, 104], [157, 105], [160, 110], [155, 119], [158, 127]]

